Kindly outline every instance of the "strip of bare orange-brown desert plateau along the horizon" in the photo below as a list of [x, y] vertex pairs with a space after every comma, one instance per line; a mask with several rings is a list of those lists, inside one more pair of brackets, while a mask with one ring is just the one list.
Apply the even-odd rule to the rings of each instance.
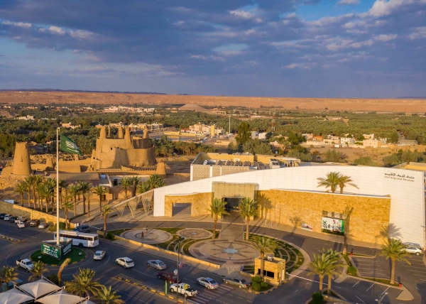
[[198, 104], [259, 108], [425, 113], [426, 99], [321, 99], [288, 97], [219, 97], [196, 95], [111, 94], [84, 92], [0, 92], [0, 103], [16, 104]]

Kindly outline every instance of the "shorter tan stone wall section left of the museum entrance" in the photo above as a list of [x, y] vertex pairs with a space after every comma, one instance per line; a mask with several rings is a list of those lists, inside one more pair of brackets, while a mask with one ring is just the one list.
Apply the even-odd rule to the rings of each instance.
[[192, 195], [165, 195], [165, 217], [173, 215], [173, 203], [175, 202], [190, 202], [191, 216], [207, 215], [209, 212], [210, 203], [212, 202], [212, 192], [196, 193]]

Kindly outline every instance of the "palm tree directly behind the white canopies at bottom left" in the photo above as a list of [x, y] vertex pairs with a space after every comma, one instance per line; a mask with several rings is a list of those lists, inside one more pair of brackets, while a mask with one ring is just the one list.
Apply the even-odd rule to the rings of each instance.
[[77, 274], [72, 275], [74, 280], [65, 282], [67, 291], [75, 295], [87, 297], [89, 293], [97, 295], [102, 285], [94, 279], [94, 271], [90, 268], [79, 268]]

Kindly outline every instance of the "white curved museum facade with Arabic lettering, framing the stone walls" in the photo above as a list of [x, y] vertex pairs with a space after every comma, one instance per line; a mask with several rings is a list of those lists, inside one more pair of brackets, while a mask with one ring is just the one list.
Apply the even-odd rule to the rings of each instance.
[[[398, 239], [425, 245], [425, 183], [420, 171], [367, 166], [312, 165], [256, 170], [179, 183], [154, 191], [154, 216], [165, 215], [165, 195], [190, 195], [212, 192], [213, 182], [257, 183], [258, 190], [302, 190], [324, 192], [317, 178], [336, 171], [349, 175], [359, 189], [346, 186], [354, 195], [391, 196], [389, 222]], [[392, 235], [390, 236], [392, 237]]]

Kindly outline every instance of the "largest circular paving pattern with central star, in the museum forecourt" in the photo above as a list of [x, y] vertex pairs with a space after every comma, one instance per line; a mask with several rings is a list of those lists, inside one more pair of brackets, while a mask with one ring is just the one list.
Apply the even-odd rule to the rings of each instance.
[[215, 264], [250, 265], [259, 256], [251, 242], [226, 239], [197, 241], [188, 250], [192, 256]]

